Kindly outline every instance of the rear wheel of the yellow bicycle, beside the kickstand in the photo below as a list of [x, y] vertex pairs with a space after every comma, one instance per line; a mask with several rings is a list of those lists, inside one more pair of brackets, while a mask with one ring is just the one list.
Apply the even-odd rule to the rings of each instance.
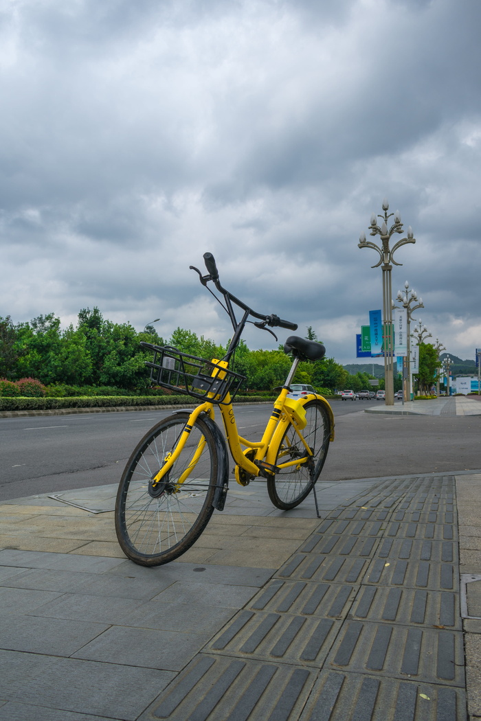
[[304, 409], [307, 424], [301, 434], [311, 449], [312, 456], [299, 438], [294, 425], [290, 423], [279, 445], [275, 465], [299, 462], [281, 468], [275, 476], [268, 478], [270, 500], [281, 510], [295, 508], [309, 495], [322, 471], [329, 448], [331, 423], [325, 405], [316, 399], [306, 403]]

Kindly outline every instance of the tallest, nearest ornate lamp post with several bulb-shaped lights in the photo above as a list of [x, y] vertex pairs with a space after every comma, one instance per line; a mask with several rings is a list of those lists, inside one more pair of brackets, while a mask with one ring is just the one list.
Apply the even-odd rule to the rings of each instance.
[[[398, 240], [392, 248], [389, 248], [389, 241], [394, 233], [402, 233], [402, 223], [400, 211], [395, 213], [387, 213], [389, 210], [389, 203], [384, 198], [382, 201], [382, 215], [376, 216], [376, 213], [371, 215], [371, 235], [379, 235], [381, 238], [381, 247], [378, 247], [375, 243], [366, 240], [366, 233], [361, 233], [359, 236], [359, 248], [372, 248], [379, 253], [379, 262], [371, 267], [379, 267], [381, 265], [382, 270], [382, 298], [383, 298], [383, 325], [384, 325], [384, 388], [386, 389], [385, 403], [386, 405], [394, 405], [394, 344], [392, 334], [392, 290], [391, 290], [391, 270], [392, 265], [402, 265], [394, 260], [394, 252], [402, 245], [407, 243], [415, 243], [415, 238], [412, 236], [411, 226], [407, 229], [407, 237]], [[394, 216], [394, 223], [389, 228], [389, 218]], [[378, 224], [377, 218], [381, 218], [381, 224]]]

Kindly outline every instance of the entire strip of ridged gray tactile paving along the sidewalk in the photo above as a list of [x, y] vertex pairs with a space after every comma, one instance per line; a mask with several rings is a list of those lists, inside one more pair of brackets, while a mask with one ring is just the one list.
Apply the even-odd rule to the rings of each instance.
[[465, 721], [452, 477], [340, 504], [139, 721]]

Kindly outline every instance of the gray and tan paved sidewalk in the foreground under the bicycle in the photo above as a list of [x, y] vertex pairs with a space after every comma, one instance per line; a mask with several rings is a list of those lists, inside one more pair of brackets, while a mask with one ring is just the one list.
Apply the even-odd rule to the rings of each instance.
[[479, 718], [480, 490], [319, 482], [318, 519], [231, 482], [154, 569], [120, 552], [114, 486], [2, 503], [0, 721]]

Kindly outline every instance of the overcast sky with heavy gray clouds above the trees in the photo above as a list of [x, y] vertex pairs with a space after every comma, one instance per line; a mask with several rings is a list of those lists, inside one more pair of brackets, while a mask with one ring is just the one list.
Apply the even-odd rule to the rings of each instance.
[[408, 280], [474, 358], [480, 28], [480, 0], [0, 0], [0, 316], [98, 306], [225, 342], [189, 270], [210, 251], [237, 296], [356, 362], [382, 306], [358, 239], [386, 197], [416, 239], [394, 295]]

